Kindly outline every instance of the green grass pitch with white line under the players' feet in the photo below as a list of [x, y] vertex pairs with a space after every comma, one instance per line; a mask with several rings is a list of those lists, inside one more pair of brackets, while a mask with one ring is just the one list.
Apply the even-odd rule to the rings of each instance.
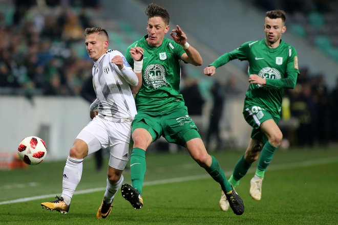
[[[227, 177], [243, 151], [217, 151]], [[336, 149], [278, 150], [262, 186], [262, 200], [248, 194], [252, 165], [237, 192], [245, 212], [222, 212], [220, 187], [185, 152], [147, 154], [143, 187], [144, 207], [134, 210], [120, 192], [106, 219], [96, 219], [105, 188], [106, 170], [95, 171], [94, 161], [84, 161], [77, 191], [68, 214], [41, 209], [40, 202], [60, 194], [65, 161], [44, 162], [28, 169], [0, 171], [0, 224], [335, 224], [338, 221], [338, 151]], [[107, 164], [107, 159], [105, 159]], [[130, 172], [124, 172], [130, 182]], [[47, 195], [23, 202], [8, 201]], [[37, 197], [40, 198], [40, 197]]]

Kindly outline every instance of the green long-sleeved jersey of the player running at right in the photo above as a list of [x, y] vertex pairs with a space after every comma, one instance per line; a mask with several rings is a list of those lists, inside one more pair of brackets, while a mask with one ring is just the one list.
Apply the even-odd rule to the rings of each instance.
[[212, 64], [216, 68], [233, 59], [247, 60], [249, 62], [248, 76], [257, 74], [266, 78], [266, 85], [250, 84], [245, 95], [244, 109], [257, 105], [263, 107], [269, 113], [279, 119], [281, 113], [283, 84], [288, 74], [299, 74], [297, 52], [289, 44], [281, 40], [280, 45], [269, 48], [265, 39], [248, 41], [238, 49], [220, 56]]

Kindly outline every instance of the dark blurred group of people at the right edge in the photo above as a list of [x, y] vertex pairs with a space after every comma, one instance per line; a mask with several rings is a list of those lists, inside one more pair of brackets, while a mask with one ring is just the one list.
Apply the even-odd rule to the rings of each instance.
[[306, 68], [300, 72], [295, 88], [286, 91], [285, 102], [289, 104], [284, 110], [287, 113], [282, 113], [282, 120], [294, 118], [298, 126], [285, 130], [284, 137], [297, 146], [326, 146], [337, 142], [338, 76], [335, 87], [329, 90], [324, 75], [310, 74]]

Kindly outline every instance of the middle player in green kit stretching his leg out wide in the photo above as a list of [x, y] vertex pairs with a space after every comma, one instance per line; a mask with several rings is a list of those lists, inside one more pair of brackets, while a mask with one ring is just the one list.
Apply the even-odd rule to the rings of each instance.
[[[164, 37], [169, 31], [169, 14], [164, 8], [150, 4], [145, 9], [145, 14], [148, 17], [148, 34], [134, 42], [126, 53], [126, 60], [134, 65], [138, 76], [142, 75], [142, 82], [134, 90], [137, 93], [137, 115], [132, 123], [132, 186], [123, 184], [122, 196], [130, 201], [135, 209], [142, 208], [145, 151], [152, 142], [163, 136], [168, 142], [187, 148], [192, 158], [220, 184], [234, 213], [241, 215], [244, 212], [242, 199], [227, 181], [218, 161], [207, 153], [198, 128], [189, 117], [179, 93], [179, 62], [183, 60], [193, 65], [201, 65], [202, 58], [199, 52], [188, 44], [187, 37], [179, 26], [170, 33], [174, 40]], [[133, 51], [129, 52], [130, 50]], [[131, 54], [137, 54], [140, 60], [134, 61]]]

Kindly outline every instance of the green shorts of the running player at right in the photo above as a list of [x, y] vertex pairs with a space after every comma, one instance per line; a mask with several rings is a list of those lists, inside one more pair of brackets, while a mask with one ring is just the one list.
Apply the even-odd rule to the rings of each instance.
[[260, 129], [261, 124], [269, 119], [274, 120], [275, 123], [278, 123], [279, 121], [279, 118], [274, 118], [267, 110], [257, 105], [250, 105], [249, 107], [244, 108], [243, 116], [245, 121], [252, 127], [251, 138], [258, 140], [263, 144], [265, 144], [268, 139]]

